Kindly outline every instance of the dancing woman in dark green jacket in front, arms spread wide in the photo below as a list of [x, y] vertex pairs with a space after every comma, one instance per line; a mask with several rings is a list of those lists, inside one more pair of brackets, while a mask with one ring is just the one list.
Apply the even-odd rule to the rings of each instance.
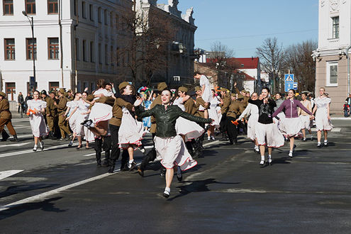
[[[190, 169], [197, 165], [197, 162], [192, 159], [189, 152], [186, 150], [184, 141], [180, 135], [177, 135], [175, 124], [177, 118], [183, 117], [189, 121], [198, 123], [211, 123], [211, 119], [199, 118], [191, 116], [189, 113], [182, 111], [181, 108], [175, 105], [170, 105], [172, 93], [169, 90], [162, 91], [162, 105], [156, 105], [148, 111], [140, 108], [143, 99], [135, 101], [135, 113], [139, 118], [146, 116], [154, 116], [157, 123], [155, 136], [155, 149], [157, 157], [161, 157], [162, 166], [167, 169], [166, 172], [166, 188], [163, 192], [165, 198], [169, 197], [170, 186], [174, 175], [174, 166], [179, 166], [182, 171]], [[179, 175], [180, 174], [180, 175]], [[181, 172], [177, 172], [177, 177], [182, 176]]]

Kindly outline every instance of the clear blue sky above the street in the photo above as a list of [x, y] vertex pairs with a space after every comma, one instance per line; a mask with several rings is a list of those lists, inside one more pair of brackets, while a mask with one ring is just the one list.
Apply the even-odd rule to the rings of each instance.
[[211, 50], [219, 41], [234, 57], [252, 57], [269, 37], [283, 47], [318, 39], [318, 0], [179, 0], [179, 11], [191, 6], [198, 27], [195, 48]]

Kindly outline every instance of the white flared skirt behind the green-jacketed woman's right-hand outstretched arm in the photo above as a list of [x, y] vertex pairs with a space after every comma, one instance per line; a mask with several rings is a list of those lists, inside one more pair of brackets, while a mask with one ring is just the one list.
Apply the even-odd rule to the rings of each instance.
[[177, 118], [175, 128], [177, 135], [185, 135], [185, 141], [199, 138], [205, 131], [204, 128], [199, 126], [199, 124], [189, 121], [183, 117]]

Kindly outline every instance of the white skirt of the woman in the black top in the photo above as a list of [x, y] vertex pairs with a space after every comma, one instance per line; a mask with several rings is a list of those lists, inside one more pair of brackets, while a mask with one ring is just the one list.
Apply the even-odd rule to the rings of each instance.
[[258, 145], [267, 145], [267, 147], [281, 147], [284, 145], [284, 136], [275, 123], [263, 124], [257, 122], [255, 136]]

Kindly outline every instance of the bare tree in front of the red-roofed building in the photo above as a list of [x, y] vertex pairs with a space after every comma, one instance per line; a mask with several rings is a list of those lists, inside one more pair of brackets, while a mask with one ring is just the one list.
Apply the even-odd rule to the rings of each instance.
[[233, 89], [234, 82], [242, 87], [243, 80], [239, 79], [239, 74], [235, 72], [239, 68], [238, 62], [233, 58], [233, 50], [223, 45], [221, 42], [215, 42], [211, 45], [211, 52], [208, 55], [210, 58], [208, 66], [216, 69], [217, 82], [221, 87]]

